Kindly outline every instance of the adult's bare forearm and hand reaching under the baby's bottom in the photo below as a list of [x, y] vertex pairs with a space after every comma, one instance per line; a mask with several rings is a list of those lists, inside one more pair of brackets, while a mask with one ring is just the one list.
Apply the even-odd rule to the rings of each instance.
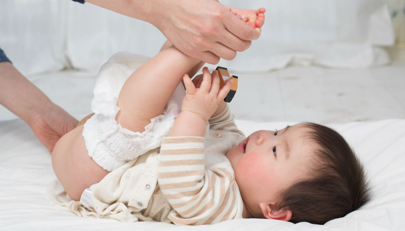
[[54, 104], [11, 62], [0, 62], [0, 104], [25, 121], [52, 152], [56, 142], [75, 128], [77, 120]]

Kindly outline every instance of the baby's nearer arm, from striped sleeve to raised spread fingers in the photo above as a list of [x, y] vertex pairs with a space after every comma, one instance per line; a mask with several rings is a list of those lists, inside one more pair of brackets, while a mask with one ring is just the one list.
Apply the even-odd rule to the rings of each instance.
[[[231, 82], [219, 90], [220, 78], [203, 68], [203, 82], [196, 88], [183, 77], [187, 94], [169, 137], [162, 140], [158, 181], [162, 193], [176, 210], [169, 215], [177, 225], [211, 224], [237, 216], [237, 185], [232, 172], [205, 169], [206, 121], [230, 90]], [[219, 183], [220, 182], [220, 183]], [[228, 211], [228, 212], [225, 212]]]

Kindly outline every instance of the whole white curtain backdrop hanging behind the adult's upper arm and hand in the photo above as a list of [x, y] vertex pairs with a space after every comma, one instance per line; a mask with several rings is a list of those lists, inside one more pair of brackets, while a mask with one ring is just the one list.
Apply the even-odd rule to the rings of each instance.
[[[220, 65], [268, 71], [290, 63], [358, 68], [386, 64], [394, 43], [383, 0], [222, 0], [266, 8], [262, 35]], [[0, 47], [23, 74], [62, 68], [97, 72], [118, 51], [153, 56], [165, 38], [149, 23], [68, 0], [2, 0]]]

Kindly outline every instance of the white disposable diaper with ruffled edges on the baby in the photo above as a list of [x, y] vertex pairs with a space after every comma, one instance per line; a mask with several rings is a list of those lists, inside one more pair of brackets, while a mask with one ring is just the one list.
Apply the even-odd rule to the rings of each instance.
[[113, 55], [100, 68], [94, 87], [92, 111], [86, 121], [83, 137], [89, 156], [107, 171], [113, 171], [126, 162], [157, 148], [167, 136], [180, 113], [185, 90], [181, 83], [166, 104], [163, 113], [151, 119], [145, 131], [134, 132], [115, 121], [119, 107], [117, 99], [126, 79], [149, 58], [128, 52]]

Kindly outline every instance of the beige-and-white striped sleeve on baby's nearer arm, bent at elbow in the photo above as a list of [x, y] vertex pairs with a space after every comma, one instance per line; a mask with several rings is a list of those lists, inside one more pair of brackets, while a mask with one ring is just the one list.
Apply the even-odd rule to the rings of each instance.
[[[168, 137], [160, 149], [158, 182], [176, 225], [217, 223], [235, 215], [237, 187], [227, 169], [205, 169], [204, 138]], [[232, 215], [233, 214], [233, 215]]]

